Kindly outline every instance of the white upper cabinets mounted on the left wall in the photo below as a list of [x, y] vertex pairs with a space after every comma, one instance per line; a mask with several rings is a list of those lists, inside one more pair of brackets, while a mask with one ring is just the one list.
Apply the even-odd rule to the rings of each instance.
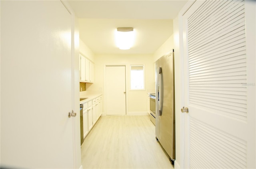
[[80, 55], [80, 82], [93, 83], [94, 63]]

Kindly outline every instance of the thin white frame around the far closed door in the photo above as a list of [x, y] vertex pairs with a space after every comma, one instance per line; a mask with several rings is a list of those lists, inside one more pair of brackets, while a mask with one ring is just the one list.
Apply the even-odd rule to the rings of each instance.
[[[104, 89], [103, 89], [103, 94], [104, 94], [104, 100], [106, 100], [106, 67], [107, 66], [124, 66], [125, 67], [125, 90], [126, 90], [126, 96], [125, 96], [125, 104], [126, 104], [126, 108], [125, 108], [125, 116], [127, 115], [127, 112], [128, 112], [128, 85], [127, 85], [127, 77], [128, 77], [128, 74], [127, 74], [127, 67], [128, 65], [125, 65], [125, 64], [104, 64]], [[106, 102], [104, 101], [104, 112], [102, 113], [103, 116], [106, 116]]]

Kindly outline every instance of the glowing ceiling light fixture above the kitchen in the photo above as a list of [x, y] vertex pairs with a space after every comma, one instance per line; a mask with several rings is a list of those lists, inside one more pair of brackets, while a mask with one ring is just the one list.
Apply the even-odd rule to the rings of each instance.
[[135, 32], [133, 28], [116, 29], [116, 45], [119, 49], [127, 50], [134, 44]]

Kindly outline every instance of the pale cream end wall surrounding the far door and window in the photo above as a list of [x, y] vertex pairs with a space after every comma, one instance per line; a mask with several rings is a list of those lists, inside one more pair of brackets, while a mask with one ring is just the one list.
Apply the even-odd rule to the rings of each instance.
[[[130, 91], [130, 65], [145, 65], [146, 90]], [[87, 84], [86, 90], [102, 90], [104, 93], [104, 67], [106, 65], [126, 65], [127, 114], [146, 114], [147, 92], [154, 92], [153, 55], [95, 55], [94, 83]], [[103, 110], [104, 112], [104, 110]]]

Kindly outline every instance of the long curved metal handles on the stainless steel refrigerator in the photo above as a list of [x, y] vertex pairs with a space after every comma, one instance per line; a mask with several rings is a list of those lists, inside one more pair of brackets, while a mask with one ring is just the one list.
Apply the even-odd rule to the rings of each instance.
[[156, 80], [156, 110], [158, 112], [158, 116], [162, 115], [162, 97], [163, 97], [163, 90], [162, 90], [162, 68], [158, 68], [157, 72], [157, 80]]

